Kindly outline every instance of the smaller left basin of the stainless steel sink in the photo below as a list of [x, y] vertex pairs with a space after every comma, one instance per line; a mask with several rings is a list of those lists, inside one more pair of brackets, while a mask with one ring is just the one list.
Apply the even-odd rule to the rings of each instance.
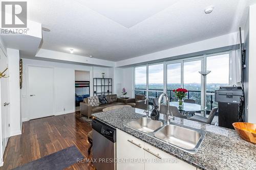
[[163, 123], [158, 120], [152, 120], [150, 117], [141, 117], [137, 120], [127, 123], [127, 126], [138, 131], [148, 133], [157, 130], [158, 128], [163, 126]]

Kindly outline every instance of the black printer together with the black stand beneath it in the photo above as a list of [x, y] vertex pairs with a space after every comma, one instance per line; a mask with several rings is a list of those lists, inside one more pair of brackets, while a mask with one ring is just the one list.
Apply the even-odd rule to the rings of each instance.
[[215, 101], [218, 102], [219, 126], [234, 129], [232, 123], [239, 122], [242, 114], [242, 87], [226, 86], [215, 90]]

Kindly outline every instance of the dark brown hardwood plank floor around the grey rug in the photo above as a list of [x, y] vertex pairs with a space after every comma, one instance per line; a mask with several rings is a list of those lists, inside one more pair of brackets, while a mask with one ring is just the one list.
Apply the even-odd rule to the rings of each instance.
[[[12, 169], [33, 160], [76, 145], [85, 158], [90, 143], [87, 134], [91, 125], [80, 118], [80, 113], [39, 118], [24, 122], [22, 135], [9, 138], [0, 170]], [[66, 169], [94, 169], [90, 163], [75, 163]]]

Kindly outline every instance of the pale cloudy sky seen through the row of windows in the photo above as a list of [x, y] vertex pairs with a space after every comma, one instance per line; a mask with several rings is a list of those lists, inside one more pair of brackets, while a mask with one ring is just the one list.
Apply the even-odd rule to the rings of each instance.
[[[180, 63], [167, 65], [167, 83], [180, 83]], [[201, 83], [201, 61], [184, 62], [184, 84]], [[229, 80], [229, 54], [207, 57], [207, 83], [226, 83]], [[149, 83], [163, 84], [163, 64], [148, 66]], [[135, 68], [135, 83], [146, 84], [146, 66]]]

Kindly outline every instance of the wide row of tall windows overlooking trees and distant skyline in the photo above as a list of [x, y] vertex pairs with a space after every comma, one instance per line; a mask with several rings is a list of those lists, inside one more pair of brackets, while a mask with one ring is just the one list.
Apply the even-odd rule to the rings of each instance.
[[[206, 79], [199, 73], [201, 70], [211, 71]], [[173, 90], [182, 87], [188, 90], [187, 98], [203, 105], [205, 85], [208, 111], [217, 106], [214, 91], [228, 85], [228, 82], [228, 52], [135, 67], [135, 94], [144, 94], [152, 99], [166, 92], [171, 101], [177, 101]]]

